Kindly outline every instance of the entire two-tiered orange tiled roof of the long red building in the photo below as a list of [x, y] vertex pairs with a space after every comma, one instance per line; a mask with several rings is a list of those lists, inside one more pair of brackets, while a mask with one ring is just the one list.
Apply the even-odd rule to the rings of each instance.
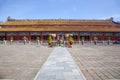
[[120, 32], [120, 24], [112, 20], [7, 20], [1, 31], [103, 31]]

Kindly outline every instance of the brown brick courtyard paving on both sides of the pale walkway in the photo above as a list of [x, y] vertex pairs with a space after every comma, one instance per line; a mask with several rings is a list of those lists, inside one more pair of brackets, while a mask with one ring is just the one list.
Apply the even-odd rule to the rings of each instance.
[[[0, 44], [0, 79], [33, 80], [53, 50]], [[120, 80], [120, 45], [73, 45], [67, 50], [87, 80]]]

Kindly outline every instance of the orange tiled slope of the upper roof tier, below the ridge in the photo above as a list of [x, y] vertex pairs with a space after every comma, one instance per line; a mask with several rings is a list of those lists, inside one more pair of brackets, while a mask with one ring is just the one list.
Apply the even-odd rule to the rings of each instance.
[[110, 20], [8, 20], [2, 25], [117, 25]]

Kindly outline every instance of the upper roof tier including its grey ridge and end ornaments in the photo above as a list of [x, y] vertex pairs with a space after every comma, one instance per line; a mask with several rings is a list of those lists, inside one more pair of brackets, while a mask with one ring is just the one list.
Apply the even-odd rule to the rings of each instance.
[[12, 19], [0, 24], [6, 26], [120, 26], [113, 19]]

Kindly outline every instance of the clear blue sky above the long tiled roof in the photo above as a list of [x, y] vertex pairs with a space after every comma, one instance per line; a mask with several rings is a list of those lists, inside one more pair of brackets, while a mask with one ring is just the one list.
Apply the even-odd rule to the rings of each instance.
[[120, 0], [0, 0], [0, 21], [15, 19], [108, 19], [120, 21]]

